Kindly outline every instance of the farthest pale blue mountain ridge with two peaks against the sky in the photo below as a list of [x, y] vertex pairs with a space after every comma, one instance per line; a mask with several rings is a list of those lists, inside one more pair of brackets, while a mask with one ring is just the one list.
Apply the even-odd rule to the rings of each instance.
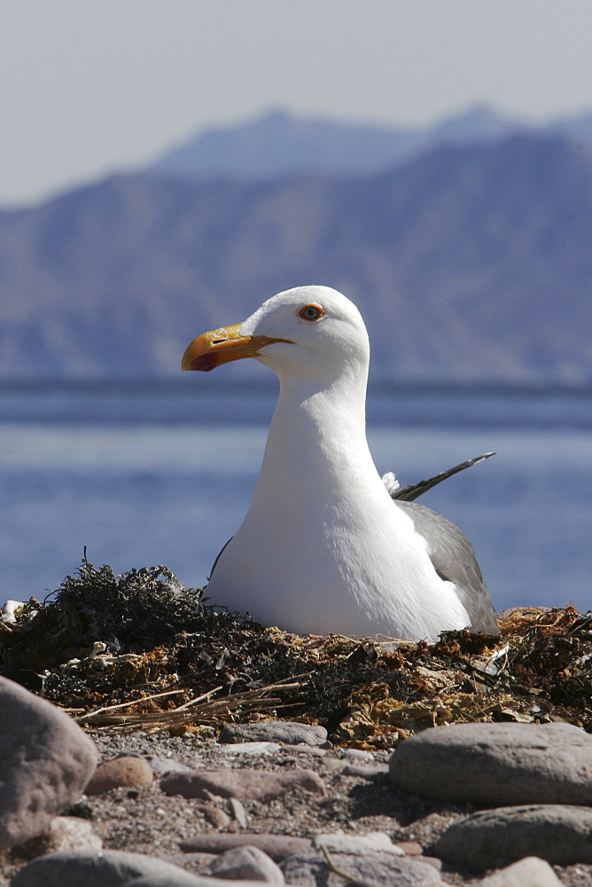
[[238, 126], [199, 133], [146, 171], [193, 179], [223, 176], [243, 180], [292, 173], [367, 175], [401, 166], [436, 147], [492, 142], [519, 129], [518, 123], [487, 106], [416, 130], [274, 111]]

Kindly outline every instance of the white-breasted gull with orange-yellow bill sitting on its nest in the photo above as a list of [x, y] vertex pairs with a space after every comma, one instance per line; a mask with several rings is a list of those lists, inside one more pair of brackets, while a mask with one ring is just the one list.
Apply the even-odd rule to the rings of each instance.
[[182, 369], [243, 357], [269, 366], [280, 388], [251, 505], [214, 565], [210, 600], [298, 634], [497, 634], [469, 540], [405, 491], [397, 498], [393, 475], [383, 482], [374, 465], [370, 344], [353, 302], [330, 287], [286, 290], [192, 341]]

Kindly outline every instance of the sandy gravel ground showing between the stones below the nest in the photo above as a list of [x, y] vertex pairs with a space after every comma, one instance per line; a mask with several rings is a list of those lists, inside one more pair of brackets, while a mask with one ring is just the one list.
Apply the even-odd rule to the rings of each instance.
[[[352, 834], [384, 831], [393, 841], [417, 841], [430, 853], [431, 844], [448, 825], [472, 812], [472, 805], [447, 805], [409, 795], [391, 788], [388, 781], [369, 781], [361, 776], [347, 775], [347, 766], [386, 765], [389, 752], [373, 755], [343, 749], [330, 749], [323, 757], [286, 750], [271, 755], [230, 755], [220, 751], [214, 740], [199, 741], [194, 736], [171, 737], [168, 734], [143, 733], [129, 735], [92, 734], [102, 759], [121, 753], [136, 753], [145, 757], [167, 757], [193, 767], [249, 767], [263, 770], [306, 767], [315, 770], [323, 779], [326, 797], [306, 791], [293, 791], [269, 804], [245, 801], [246, 828], [231, 819], [222, 831], [270, 832], [308, 837], [318, 831], [343, 829]], [[214, 802], [230, 812], [226, 801]], [[105, 849], [126, 850], [157, 856], [198, 872], [206, 857], [179, 850], [180, 840], [217, 829], [206, 822], [199, 812], [199, 802], [183, 797], [167, 797], [160, 791], [158, 781], [142, 789], [112, 789], [104, 795], [84, 796], [69, 811], [92, 823], [101, 836]], [[0, 885], [26, 860], [19, 852], [0, 854]], [[561, 881], [570, 887], [589, 887], [592, 884], [592, 866], [556, 868]], [[3, 883], [4, 876], [4, 883]], [[478, 878], [469, 872], [444, 866], [445, 883], [474, 884]]]

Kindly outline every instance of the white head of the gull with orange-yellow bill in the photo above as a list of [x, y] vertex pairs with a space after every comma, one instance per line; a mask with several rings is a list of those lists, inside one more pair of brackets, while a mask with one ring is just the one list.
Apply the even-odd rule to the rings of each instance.
[[360, 312], [330, 287], [278, 293], [236, 326], [200, 335], [183, 355], [183, 370], [254, 357], [283, 378], [330, 384], [368, 371], [370, 347]]

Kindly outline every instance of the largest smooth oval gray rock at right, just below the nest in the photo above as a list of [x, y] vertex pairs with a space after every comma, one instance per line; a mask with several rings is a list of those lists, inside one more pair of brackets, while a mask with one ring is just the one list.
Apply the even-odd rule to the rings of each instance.
[[435, 727], [393, 753], [390, 778], [445, 801], [592, 804], [592, 735], [571, 724]]

